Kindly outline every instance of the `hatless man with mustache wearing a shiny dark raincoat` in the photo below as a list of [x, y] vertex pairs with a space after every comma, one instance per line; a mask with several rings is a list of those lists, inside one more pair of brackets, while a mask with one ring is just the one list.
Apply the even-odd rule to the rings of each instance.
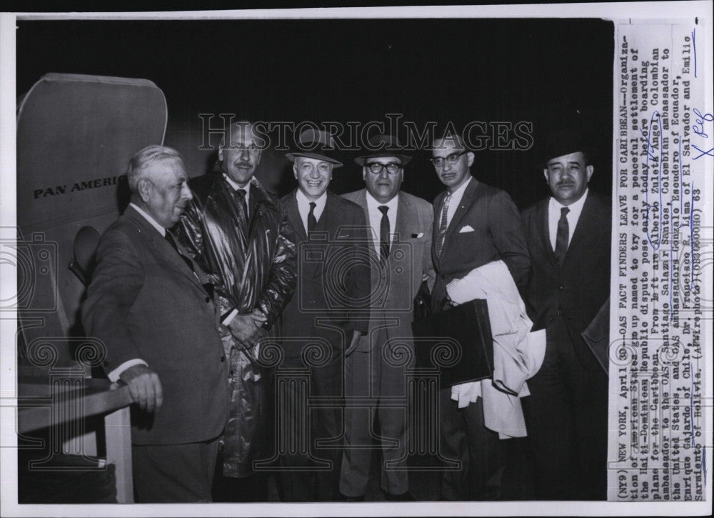
[[266, 427], [271, 372], [261, 367], [259, 349], [266, 342], [260, 340], [279, 336], [279, 317], [296, 283], [293, 229], [277, 196], [253, 176], [258, 143], [251, 124], [228, 127], [218, 150], [222, 174], [189, 181], [193, 200], [179, 223], [179, 239], [208, 272], [226, 326], [231, 411], [223, 477], [214, 484], [217, 501], [267, 499], [267, 478], [251, 466], [268, 454], [272, 437]]

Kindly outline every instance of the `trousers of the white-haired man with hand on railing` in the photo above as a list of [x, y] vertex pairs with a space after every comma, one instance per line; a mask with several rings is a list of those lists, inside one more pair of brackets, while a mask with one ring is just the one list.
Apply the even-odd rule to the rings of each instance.
[[211, 502], [218, 437], [188, 444], [131, 447], [138, 504]]

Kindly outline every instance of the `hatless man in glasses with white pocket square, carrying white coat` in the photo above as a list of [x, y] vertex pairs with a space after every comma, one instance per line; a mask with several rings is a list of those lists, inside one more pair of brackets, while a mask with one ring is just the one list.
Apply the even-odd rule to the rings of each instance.
[[[437, 272], [433, 310], [448, 304], [446, 285], [471, 270], [502, 259], [519, 289], [526, 285], [530, 258], [518, 209], [506, 192], [471, 176], [474, 154], [461, 136], [446, 134], [433, 143], [432, 159], [446, 191], [434, 200], [433, 262]], [[439, 394], [441, 452], [461, 461], [446, 471], [441, 499], [501, 497], [503, 453], [498, 434], [483, 422], [483, 399], [459, 409], [451, 388]]]

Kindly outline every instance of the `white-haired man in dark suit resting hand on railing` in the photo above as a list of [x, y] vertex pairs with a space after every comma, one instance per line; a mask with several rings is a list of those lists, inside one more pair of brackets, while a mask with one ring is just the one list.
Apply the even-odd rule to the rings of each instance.
[[228, 374], [207, 279], [167, 230], [191, 199], [188, 176], [164, 146], [138, 151], [126, 176], [131, 203], [99, 241], [82, 321], [139, 404], [136, 501], [210, 502]]

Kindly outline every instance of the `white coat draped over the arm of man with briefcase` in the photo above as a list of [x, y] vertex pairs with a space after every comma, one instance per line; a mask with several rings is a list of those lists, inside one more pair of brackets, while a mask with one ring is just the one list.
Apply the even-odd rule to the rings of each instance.
[[493, 334], [493, 380], [451, 387], [451, 399], [458, 407], [483, 397], [483, 419], [498, 437], [526, 437], [521, 397], [530, 395], [526, 379], [543, 364], [545, 329], [530, 332], [533, 322], [518, 293], [511, 272], [503, 261], [490, 262], [455, 279], [446, 286], [453, 302], [463, 304], [486, 299]]

